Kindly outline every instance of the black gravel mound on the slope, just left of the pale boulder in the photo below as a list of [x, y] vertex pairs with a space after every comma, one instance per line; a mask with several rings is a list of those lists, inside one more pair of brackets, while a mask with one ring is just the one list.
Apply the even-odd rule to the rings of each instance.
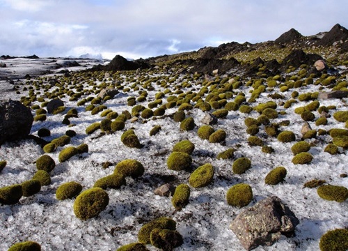
[[294, 66], [298, 68], [301, 64], [307, 64], [308, 66], [313, 66], [315, 61], [323, 59], [322, 56], [318, 54], [306, 54], [303, 50], [293, 50], [289, 55], [283, 59], [282, 68], [286, 70], [289, 66]]

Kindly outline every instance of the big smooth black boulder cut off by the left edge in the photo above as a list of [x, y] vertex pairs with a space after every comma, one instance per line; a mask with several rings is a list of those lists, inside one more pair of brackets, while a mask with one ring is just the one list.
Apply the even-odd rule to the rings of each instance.
[[0, 102], [0, 145], [6, 141], [24, 139], [33, 125], [31, 110], [21, 102]]

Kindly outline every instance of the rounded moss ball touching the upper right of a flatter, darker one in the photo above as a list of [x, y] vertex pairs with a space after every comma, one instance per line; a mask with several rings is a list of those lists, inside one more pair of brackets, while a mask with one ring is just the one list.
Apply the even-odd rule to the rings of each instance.
[[131, 176], [132, 178], [138, 178], [145, 172], [143, 164], [138, 160], [122, 160], [117, 163], [113, 174], [122, 174], [122, 176]]

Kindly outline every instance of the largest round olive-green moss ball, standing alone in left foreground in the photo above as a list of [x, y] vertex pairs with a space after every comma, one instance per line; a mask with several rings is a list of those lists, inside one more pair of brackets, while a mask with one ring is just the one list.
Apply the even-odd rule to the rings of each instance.
[[109, 204], [109, 195], [102, 188], [81, 192], [74, 201], [74, 213], [81, 220], [97, 217]]

